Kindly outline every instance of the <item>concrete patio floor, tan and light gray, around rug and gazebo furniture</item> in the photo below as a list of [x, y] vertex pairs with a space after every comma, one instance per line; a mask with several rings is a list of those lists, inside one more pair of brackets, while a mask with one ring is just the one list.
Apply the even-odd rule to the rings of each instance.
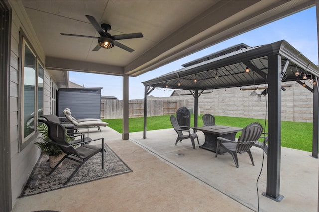
[[[19, 198], [12, 212], [56, 210], [61, 212], [250, 212], [257, 211], [256, 181], [263, 152], [252, 148], [238, 156], [235, 167], [230, 154], [192, 149], [190, 140], [175, 146], [173, 129], [130, 133], [130, 140], [109, 127], [92, 129], [91, 138], [105, 143], [133, 170], [38, 195]], [[94, 132], [93, 132], [94, 131]], [[202, 132], [197, 132], [200, 144]], [[184, 155], [184, 156], [180, 156]], [[310, 152], [282, 147], [278, 203], [266, 191], [267, 156], [258, 181], [260, 212], [317, 212], [318, 159]]]

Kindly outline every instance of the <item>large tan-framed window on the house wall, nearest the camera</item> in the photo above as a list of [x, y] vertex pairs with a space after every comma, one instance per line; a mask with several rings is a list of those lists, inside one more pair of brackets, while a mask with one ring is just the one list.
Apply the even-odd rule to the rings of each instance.
[[36, 136], [38, 118], [43, 114], [44, 68], [36, 54], [25, 39], [20, 35], [20, 151]]

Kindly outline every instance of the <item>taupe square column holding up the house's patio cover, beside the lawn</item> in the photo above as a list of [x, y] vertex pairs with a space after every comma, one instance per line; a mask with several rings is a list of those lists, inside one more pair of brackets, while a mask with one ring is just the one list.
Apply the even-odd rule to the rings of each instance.
[[123, 76], [123, 130], [122, 139], [129, 139], [129, 76]]

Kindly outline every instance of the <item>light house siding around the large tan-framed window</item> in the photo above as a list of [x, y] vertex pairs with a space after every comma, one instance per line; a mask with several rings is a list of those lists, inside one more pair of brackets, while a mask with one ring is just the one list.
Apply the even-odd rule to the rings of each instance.
[[[20, 195], [34, 165], [36, 164], [40, 150], [33, 144], [33, 141], [22, 151], [19, 151], [18, 135], [18, 105], [19, 105], [19, 30], [20, 27], [26, 34], [30, 45], [35, 53], [44, 62], [43, 50], [37, 43], [35, 33], [28, 21], [26, 12], [20, 1], [8, 1], [12, 7], [12, 30], [11, 30], [11, 61], [10, 61], [10, 139], [11, 139], [11, 181], [12, 181], [12, 204]], [[44, 110], [50, 111], [50, 76], [45, 71], [44, 79]]]

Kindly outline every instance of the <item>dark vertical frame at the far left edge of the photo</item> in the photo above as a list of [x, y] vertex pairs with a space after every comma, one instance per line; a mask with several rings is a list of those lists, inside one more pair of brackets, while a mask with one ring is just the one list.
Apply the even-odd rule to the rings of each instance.
[[12, 210], [11, 139], [10, 139], [10, 56], [11, 8], [0, 1], [0, 211]]

